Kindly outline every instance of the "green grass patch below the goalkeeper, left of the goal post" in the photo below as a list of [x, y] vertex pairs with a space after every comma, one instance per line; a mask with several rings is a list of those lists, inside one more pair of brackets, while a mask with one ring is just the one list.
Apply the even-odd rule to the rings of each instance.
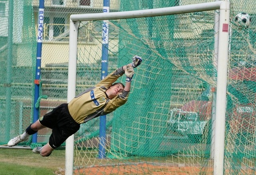
[[31, 149], [0, 148], [0, 175], [63, 175], [64, 169], [65, 149], [42, 157]]

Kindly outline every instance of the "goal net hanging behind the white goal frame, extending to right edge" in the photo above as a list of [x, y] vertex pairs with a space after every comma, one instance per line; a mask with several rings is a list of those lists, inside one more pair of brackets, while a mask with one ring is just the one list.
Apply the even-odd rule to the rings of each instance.
[[[210, 10], [108, 21], [108, 72], [134, 55], [143, 62], [128, 102], [107, 115], [106, 158], [98, 158], [99, 117], [75, 134], [74, 174], [213, 173], [218, 15]], [[254, 174], [255, 34], [233, 18], [230, 26], [224, 169]], [[76, 94], [100, 81], [102, 20], [79, 21], [77, 44]]]

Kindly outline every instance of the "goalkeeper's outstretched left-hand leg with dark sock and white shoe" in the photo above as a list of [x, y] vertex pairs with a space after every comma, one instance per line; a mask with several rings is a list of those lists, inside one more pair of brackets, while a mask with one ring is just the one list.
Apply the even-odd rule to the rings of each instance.
[[7, 143], [7, 145], [9, 147], [18, 145], [18, 143], [20, 143], [22, 141], [26, 141], [30, 135], [33, 135], [34, 133], [36, 133], [37, 131], [39, 131], [40, 129], [43, 129], [43, 128], [45, 128], [45, 126], [41, 125], [39, 123], [39, 120], [37, 120], [35, 123], [30, 124], [23, 134], [10, 139], [10, 141]]

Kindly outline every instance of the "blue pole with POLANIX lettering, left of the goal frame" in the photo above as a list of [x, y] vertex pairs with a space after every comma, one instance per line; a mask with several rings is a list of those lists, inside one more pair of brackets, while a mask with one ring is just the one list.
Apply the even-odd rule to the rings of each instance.
[[[36, 108], [36, 101], [39, 97], [39, 85], [41, 76], [41, 58], [42, 58], [42, 42], [43, 42], [43, 28], [44, 26], [44, 0], [39, 0], [39, 12], [38, 12], [38, 34], [37, 34], [37, 50], [36, 50], [36, 75], [35, 75], [35, 92], [34, 92], [34, 112], [33, 123], [39, 118], [39, 107]], [[32, 136], [32, 143], [37, 142], [37, 133]]]

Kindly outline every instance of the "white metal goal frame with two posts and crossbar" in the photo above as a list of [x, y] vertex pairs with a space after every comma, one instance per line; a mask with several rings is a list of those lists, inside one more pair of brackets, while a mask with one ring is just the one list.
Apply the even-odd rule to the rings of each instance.
[[[76, 93], [76, 66], [77, 66], [77, 37], [78, 24], [80, 21], [88, 20], [114, 20], [124, 18], [142, 18], [152, 16], [166, 16], [172, 14], [184, 14], [191, 12], [202, 12], [208, 10], [219, 10], [218, 32], [215, 36], [215, 43], [218, 50], [217, 68], [217, 90], [216, 90], [216, 113], [215, 126], [213, 133], [214, 142], [214, 174], [221, 175], [224, 173], [224, 133], [225, 133], [225, 116], [226, 116], [226, 87], [228, 72], [228, 38], [230, 25], [230, 2], [215, 1], [201, 4], [192, 4], [186, 6], [175, 6], [168, 8], [156, 8], [148, 10], [136, 10], [126, 12], [109, 12], [98, 14], [72, 14], [70, 16], [70, 38], [69, 38], [69, 63], [68, 63], [68, 98], [70, 102]], [[215, 24], [216, 25], [216, 24]], [[218, 136], [218, 137], [216, 137]], [[66, 167], [65, 174], [73, 174], [73, 157], [74, 157], [74, 135], [66, 140]]]

